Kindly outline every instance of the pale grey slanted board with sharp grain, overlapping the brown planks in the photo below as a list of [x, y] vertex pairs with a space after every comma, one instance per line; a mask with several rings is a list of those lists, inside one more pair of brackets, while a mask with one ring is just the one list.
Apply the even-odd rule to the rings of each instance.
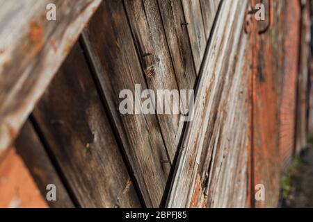
[[[236, 57], [234, 52], [243, 30], [246, 6], [247, 1], [242, 0], [223, 1], [221, 6], [211, 45], [204, 57], [203, 69], [200, 72], [193, 110], [194, 119], [187, 124], [179, 159], [175, 166], [168, 207], [189, 207], [193, 205], [194, 199], [198, 199], [194, 197], [198, 196], [195, 195], [195, 191], [199, 189], [197, 178], [200, 155], [202, 149], [207, 148], [203, 146], [207, 128], [213, 126], [210, 122], [214, 121], [214, 113], [220, 110], [220, 94], [227, 81], [227, 70], [234, 65]], [[211, 67], [211, 64], [215, 66]], [[227, 140], [223, 135], [219, 137]]]

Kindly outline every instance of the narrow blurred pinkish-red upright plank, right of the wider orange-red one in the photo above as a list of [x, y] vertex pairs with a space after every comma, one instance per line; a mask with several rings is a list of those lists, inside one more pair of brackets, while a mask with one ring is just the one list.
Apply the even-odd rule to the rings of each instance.
[[298, 76], [300, 4], [286, 1], [284, 12], [284, 71], [280, 101], [280, 160], [288, 169], [294, 155], [296, 130], [296, 83]]

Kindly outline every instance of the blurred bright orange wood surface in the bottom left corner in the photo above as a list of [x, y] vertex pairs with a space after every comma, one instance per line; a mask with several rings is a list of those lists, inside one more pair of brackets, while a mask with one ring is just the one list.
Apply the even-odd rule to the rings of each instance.
[[4, 207], [48, 207], [15, 148], [8, 148], [0, 162], [0, 208]]

